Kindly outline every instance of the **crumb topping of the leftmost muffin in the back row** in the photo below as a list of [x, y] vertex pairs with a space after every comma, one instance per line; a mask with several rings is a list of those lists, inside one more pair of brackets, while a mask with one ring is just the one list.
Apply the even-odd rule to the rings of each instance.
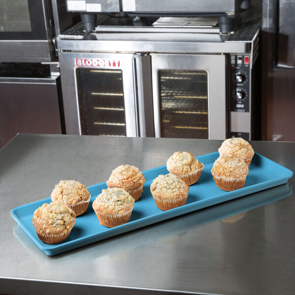
[[89, 198], [87, 187], [76, 180], [60, 180], [51, 193], [51, 200], [63, 205], [88, 201]]

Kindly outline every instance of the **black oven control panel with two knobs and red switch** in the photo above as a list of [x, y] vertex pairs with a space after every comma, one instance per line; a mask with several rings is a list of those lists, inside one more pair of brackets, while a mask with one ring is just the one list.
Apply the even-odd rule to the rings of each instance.
[[249, 112], [250, 56], [230, 56], [230, 111]]

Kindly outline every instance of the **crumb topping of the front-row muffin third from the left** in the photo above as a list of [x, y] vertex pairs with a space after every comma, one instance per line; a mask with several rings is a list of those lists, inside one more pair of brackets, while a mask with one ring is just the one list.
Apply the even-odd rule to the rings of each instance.
[[173, 174], [159, 175], [151, 185], [150, 192], [153, 196], [163, 199], [176, 199], [188, 194], [189, 186]]

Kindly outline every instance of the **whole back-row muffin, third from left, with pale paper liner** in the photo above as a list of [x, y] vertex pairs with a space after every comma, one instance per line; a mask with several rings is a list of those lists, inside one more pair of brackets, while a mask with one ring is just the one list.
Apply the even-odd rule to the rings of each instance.
[[167, 160], [167, 170], [177, 175], [187, 185], [199, 180], [203, 168], [204, 164], [187, 151], [177, 151]]

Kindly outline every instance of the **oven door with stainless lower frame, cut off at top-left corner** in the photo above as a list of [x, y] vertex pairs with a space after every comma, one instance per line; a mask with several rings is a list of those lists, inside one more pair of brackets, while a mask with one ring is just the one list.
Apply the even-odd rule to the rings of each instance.
[[54, 59], [53, 19], [49, 0], [0, 1], [0, 61], [42, 62]]

